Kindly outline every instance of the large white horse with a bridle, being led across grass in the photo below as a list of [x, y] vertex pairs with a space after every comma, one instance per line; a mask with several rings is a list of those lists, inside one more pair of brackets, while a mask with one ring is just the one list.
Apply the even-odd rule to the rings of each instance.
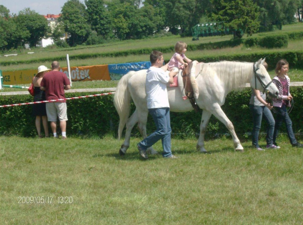
[[[235, 133], [234, 125], [222, 111], [221, 105], [224, 104], [225, 98], [229, 92], [243, 87], [247, 82], [250, 82], [252, 87], [260, 91], [266, 89], [271, 97], [278, 96], [279, 90], [276, 85], [271, 82], [271, 78], [263, 66], [264, 61], [265, 59], [260, 59], [256, 63], [238, 61], [203, 63], [202, 69], [196, 77], [199, 97], [195, 100], [197, 105], [203, 109], [200, 123], [200, 135], [196, 145], [197, 150], [206, 152], [204, 147], [204, 135], [209, 119], [213, 114], [231, 133], [235, 150], [243, 151], [243, 147]], [[136, 123], [138, 123], [138, 128], [142, 137], [147, 137], [146, 123], [148, 109], [145, 92], [146, 71], [147, 70], [140, 70], [137, 72], [130, 71], [121, 78], [116, 87], [114, 105], [120, 118], [118, 128], [119, 140], [126, 124], [125, 141], [119, 150], [120, 155], [125, 155], [129, 148], [131, 129]], [[129, 118], [130, 98], [132, 98], [136, 109]], [[189, 100], [182, 99], [182, 93], [178, 87], [168, 88], [168, 98], [170, 110], [173, 112], [187, 112], [193, 110]], [[150, 147], [148, 151], [151, 154], [157, 153], [152, 147]]]

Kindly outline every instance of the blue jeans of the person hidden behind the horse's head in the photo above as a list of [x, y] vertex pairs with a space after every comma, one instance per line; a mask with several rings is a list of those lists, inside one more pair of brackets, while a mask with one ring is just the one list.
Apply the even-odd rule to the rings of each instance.
[[262, 122], [262, 115], [264, 115], [266, 122], [268, 123], [267, 125], [267, 134], [266, 134], [266, 143], [268, 145], [272, 145], [274, 143], [273, 141], [273, 135], [274, 135], [274, 129], [275, 129], [275, 119], [273, 117], [273, 114], [267, 108], [265, 105], [264, 106], [257, 106], [250, 104], [249, 105], [250, 110], [253, 113], [253, 122], [254, 122], [254, 127], [253, 127], [253, 146], [255, 147], [260, 147], [259, 146], [259, 132], [261, 128], [261, 122]]

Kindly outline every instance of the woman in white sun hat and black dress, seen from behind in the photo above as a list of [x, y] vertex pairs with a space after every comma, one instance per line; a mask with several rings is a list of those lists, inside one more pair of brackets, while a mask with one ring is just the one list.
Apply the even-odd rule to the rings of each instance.
[[[35, 75], [35, 77], [33, 77], [33, 84], [35, 88], [34, 102], [45, 101], [45, 91], [40, 90], [40, 83], [43, 79], [44, 74], [47, 73], [49, 70], [50, 69], [47, 69], [46, 66], [41, 65], [38, 67], [37, 74]], [[45, 103], [33, 104], [32, 106], [32, 116], [36, 117], [35, 124], [39, 138], [43, 137], [41, 135], [41, 119], [43, 123], [45, 137], [49, 137]]]

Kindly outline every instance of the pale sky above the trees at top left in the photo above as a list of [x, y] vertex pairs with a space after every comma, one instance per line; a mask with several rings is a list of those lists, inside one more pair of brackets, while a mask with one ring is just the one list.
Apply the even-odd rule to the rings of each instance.
[[[10, 14], [18, 14], [24, 8], [30, 8], [41, 15], [58, 15], [67, 0], [0, 0], [0, 5], [9, 9]], [[80, 0], [84, 3], [84, 0]]]

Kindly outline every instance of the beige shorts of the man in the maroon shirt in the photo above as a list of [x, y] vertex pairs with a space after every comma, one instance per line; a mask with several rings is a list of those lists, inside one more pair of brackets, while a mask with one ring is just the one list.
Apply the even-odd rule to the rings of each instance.
[[66, 102], [47, 102], [46, 114], [47, 120], [50, 122], [56, 122], [57, 115], [60, 121], [67, 121]]

